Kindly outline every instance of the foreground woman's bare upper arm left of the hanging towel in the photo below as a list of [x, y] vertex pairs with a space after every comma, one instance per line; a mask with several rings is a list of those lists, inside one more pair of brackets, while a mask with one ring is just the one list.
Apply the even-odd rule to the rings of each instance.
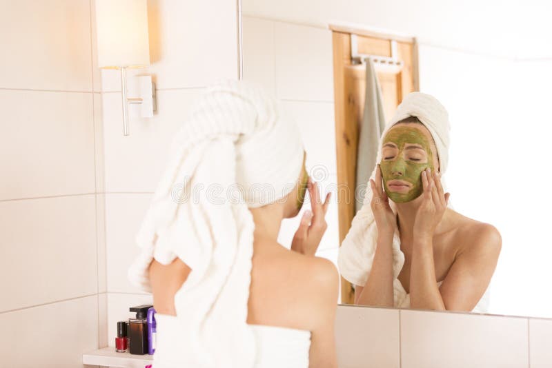
[[150, 263], [150, 283], [153, 294], [153, 306], [160, 314], [176, 316], [175, 294], [180, 289], [192, 269], [175, 258], [169, 265], [163, 265], [157, 260]]

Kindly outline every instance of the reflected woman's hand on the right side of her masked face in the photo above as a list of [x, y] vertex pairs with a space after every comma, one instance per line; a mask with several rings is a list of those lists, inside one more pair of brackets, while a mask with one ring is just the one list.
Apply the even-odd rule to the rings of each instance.
[[435, 172], [431, 172], [430, 168], [422, 172], [422, 185], [424, 187], [423, 199], [416, 212], [414, 235], [415, 237], [433, 237], [435, 228], [443, 217], [451, 194], [444, 193], [440, 176]]

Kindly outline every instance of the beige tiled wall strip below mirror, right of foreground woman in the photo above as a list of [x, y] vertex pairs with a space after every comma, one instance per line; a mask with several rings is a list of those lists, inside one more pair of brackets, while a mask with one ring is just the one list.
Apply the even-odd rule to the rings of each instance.
[[550, 320], [340, 305], [336, 327], [339, 368], [552, 365]]

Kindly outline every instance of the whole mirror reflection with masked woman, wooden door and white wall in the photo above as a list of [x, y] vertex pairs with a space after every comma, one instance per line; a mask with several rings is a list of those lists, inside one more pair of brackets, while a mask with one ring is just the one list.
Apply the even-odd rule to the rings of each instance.
[[549, 5], [528, 29], [473, 7], [242, 4], [244, 79], [293, 114], [309, 174], [335, 193], [317, 256], [339, 265], [341, 303], [552, 316], [552, 203], [521, 187], [551, 179], [533, 159], [549, 132]]

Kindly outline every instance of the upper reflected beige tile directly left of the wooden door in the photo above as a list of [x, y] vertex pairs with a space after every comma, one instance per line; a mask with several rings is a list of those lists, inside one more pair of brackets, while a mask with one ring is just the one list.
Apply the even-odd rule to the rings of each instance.
[[333, 101], [330, 30], [275, 22], [274, 44], [279, 99]]

